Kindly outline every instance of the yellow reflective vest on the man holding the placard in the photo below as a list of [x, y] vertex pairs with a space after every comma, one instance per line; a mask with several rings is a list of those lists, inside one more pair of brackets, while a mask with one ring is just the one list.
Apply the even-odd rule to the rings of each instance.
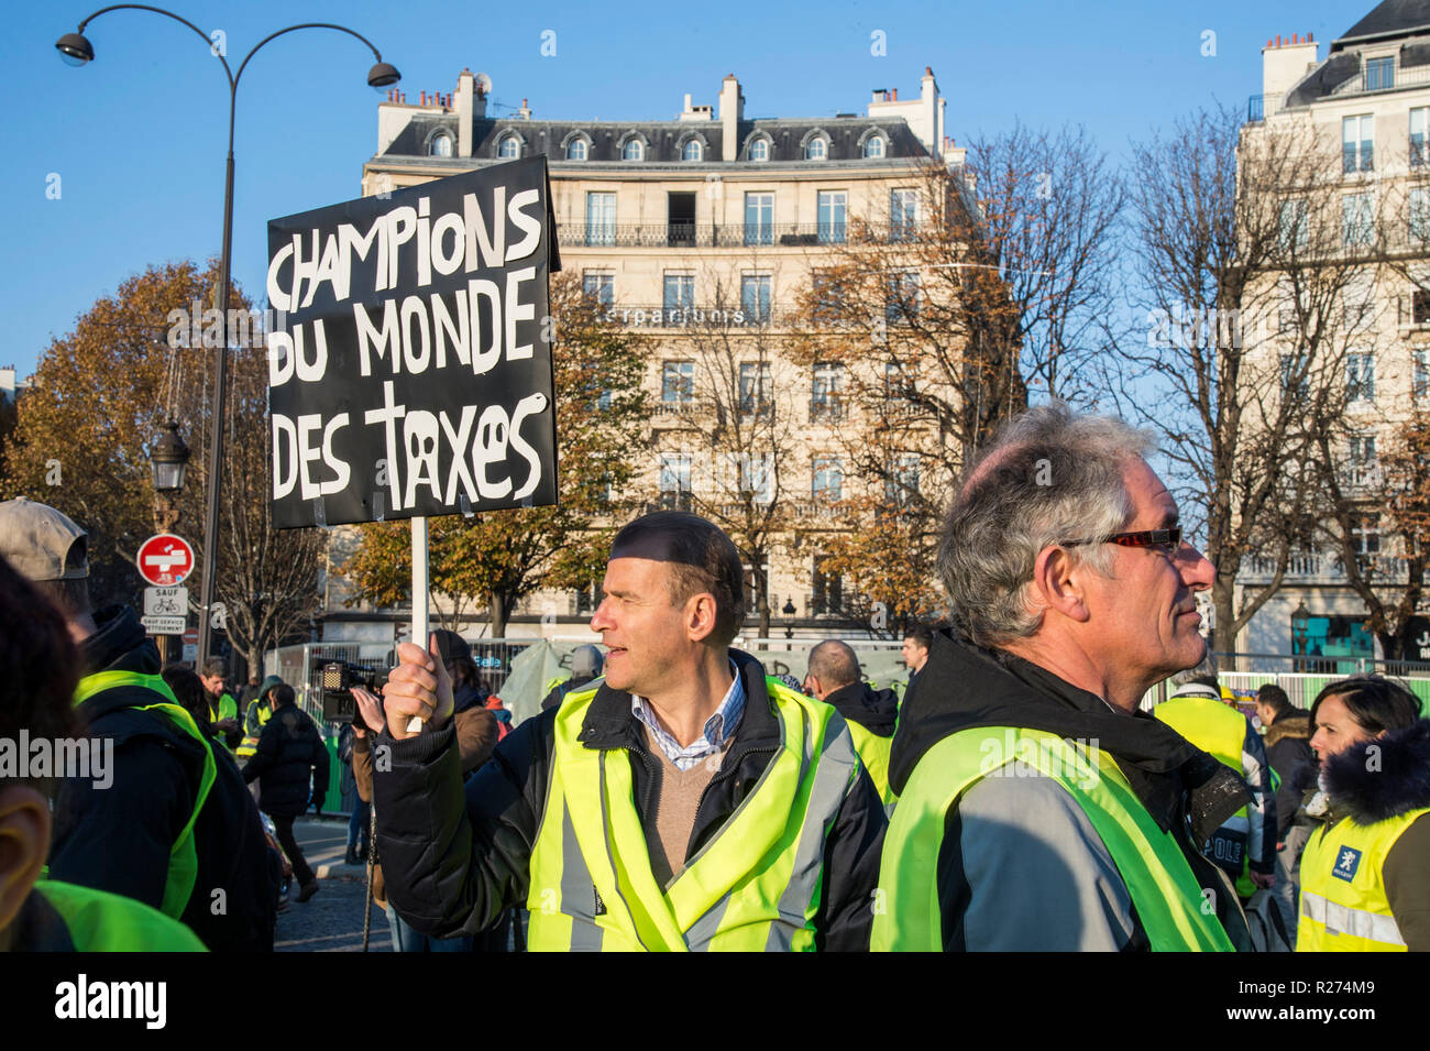
[[531, 857], [533, 951], [762, 951], [815, 947], [824, 845], [859, 772], [829, 705], [766, 679], [781, 748], [714, 838], [665, 889], [651, 871], [626, 749], [579, 741], [596, 684], [555, 722]]

